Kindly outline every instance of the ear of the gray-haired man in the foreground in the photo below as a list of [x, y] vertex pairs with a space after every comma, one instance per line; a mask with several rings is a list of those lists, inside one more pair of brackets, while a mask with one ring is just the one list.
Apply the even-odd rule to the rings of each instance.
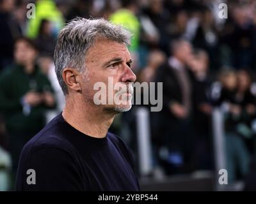
[[66, 83], [67, 87], [69, 87], [69, 89], [73, 91], [81, 92], [82, 87], [78, 82], [78, 77], [79, 73], [75, 69], [65, 68], [62, 71], [62, 78]]

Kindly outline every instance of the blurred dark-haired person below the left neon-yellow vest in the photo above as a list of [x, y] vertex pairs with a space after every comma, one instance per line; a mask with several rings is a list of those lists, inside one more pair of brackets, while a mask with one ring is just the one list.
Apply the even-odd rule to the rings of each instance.
[[56, 45], [55, 37], [52, 35], [52, 24], [47, 19], [42, 19], [38, 37], [36, 38], [36, 47], [42, 55], [53, 55]]

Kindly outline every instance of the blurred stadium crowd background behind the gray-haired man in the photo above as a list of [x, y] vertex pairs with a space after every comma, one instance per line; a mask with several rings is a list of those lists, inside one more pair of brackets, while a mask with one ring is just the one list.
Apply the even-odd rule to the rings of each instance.
[[0, 191], [63, 108], [52, 57], [75, 17], [124, 25], [137, 81], [163, 82], [161, 112], [134, 105], [109, 129], [131, 148], [141, 190], [256, 190], [256, 1], [0, 0]]

